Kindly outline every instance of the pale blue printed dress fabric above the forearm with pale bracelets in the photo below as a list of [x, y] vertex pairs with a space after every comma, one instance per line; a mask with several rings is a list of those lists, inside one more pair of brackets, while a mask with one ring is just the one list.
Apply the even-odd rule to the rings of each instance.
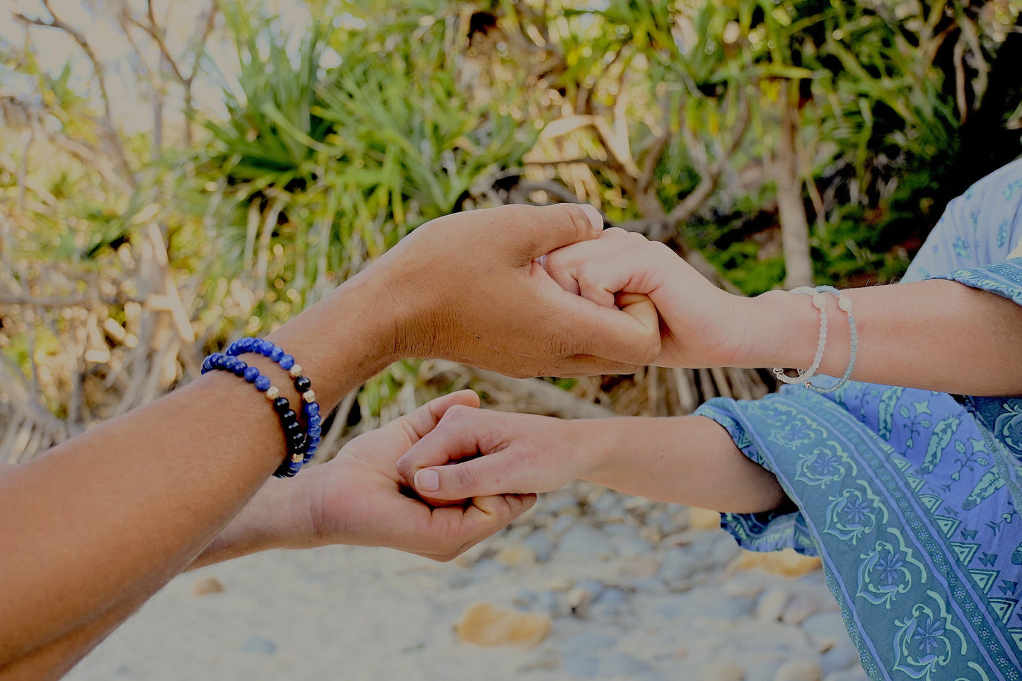
[[947, 205], [902, 280], [1001, 262], [1016, 255], [1020, 242], [1022, 158], [987, 175]]

